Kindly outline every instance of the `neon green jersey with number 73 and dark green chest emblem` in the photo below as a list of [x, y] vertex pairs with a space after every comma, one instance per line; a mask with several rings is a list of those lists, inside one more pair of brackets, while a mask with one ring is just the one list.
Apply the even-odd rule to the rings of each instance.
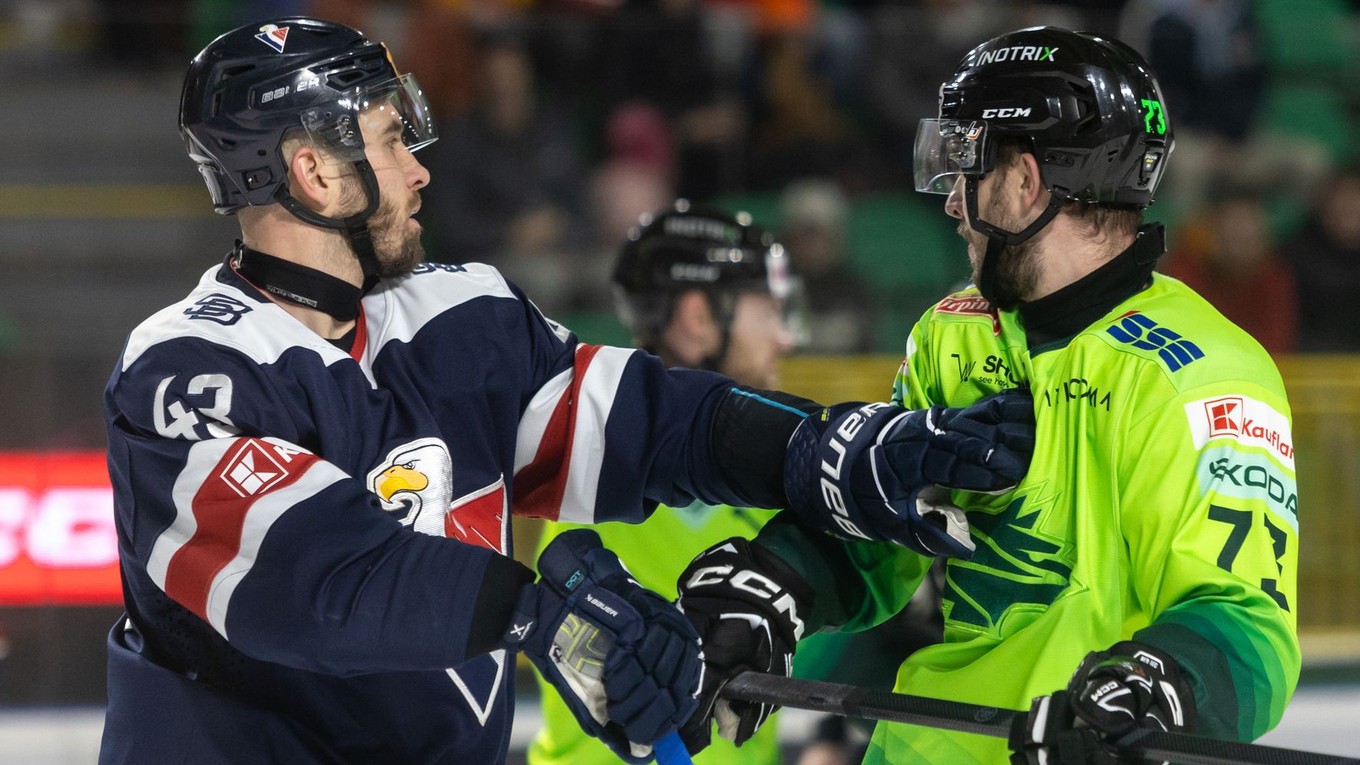
[[[1280, 721], [1299, 674], [1284, 385], [1261, 346], [1180, 282], [1155, 275], [1115, 301], [1103, 314], [1085, 304], [1034, 346], [1036, 321], [1027, 336], [1024, 319], [971, 289], [914, 327], [898, 403], [963, 406], [1028, 385], [1038, 441], [1015, 490], [953, 494], [978, 550], [948, 562], [944, 642], [910, 656], [896, 690], [1028, 709], [1088, 652], [1133, 638], [1190, 675], [1194, 732], [1250, 740]], [[850, 606], [847, 629], [881, 619], [921, 579], [914, 553], [845, 547], [877, 599]], [[1006, 758], [1001, 739], [879, 724], [865, 762]]]

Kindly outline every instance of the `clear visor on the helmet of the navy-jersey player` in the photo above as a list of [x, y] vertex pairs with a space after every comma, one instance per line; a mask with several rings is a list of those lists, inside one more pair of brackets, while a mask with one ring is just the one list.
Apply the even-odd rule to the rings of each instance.
[[409, 74], [352, 88], [332, 103], [307, 109], [302, 127], [336, 163], [364, 159], [366, 144], [377, 150], [370, 151], [375, 155], [370, 159], [377, 159], [382, 148], [418, 151], [439, 137], [430, 102]]

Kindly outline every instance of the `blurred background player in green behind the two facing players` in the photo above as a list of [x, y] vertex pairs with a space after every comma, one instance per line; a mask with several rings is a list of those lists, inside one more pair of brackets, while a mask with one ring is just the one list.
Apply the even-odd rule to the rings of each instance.
[[[726, 252], [721, 259], [713, 252]], [[615, 267], [619, 314], [638, 347], [666, 366], [711, 369], [743, 385], [777, 388], [779, 358], [794, 344], [796, 312], [789, 260], [774, 237], [744, 212], [691, 208], [645, 218], [630, 233]], [[796, 302], [796, 301], [793, 301]], [[733, 535], [755, 536], [774, 510], [694, 504], [661, 508], [641, 525], [596, 524], [605, 546], [622, 553], [639, 583], [675, 598], [675, 579], [706, 547]], [[547, 523], [541, 544], [574, 524]], [[577, 724], [562, 698], [540, 678], [543, 728], [529, 747], [530, 765], [611, 764], [619, 758]], [[775, 726], [737, 750], [722, 742], [698, 762], [779, 762]]]

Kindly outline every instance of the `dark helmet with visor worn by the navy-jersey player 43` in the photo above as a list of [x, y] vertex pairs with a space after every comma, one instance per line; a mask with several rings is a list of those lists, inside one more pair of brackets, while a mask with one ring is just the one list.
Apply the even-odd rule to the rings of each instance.
[[[401, 75], [388, 49], [360, 31], [310, 18], [246, 25], [214, 39], [189, 64], [180, 97], [180, 132], [199, 163], [214, 208], [283, 204], [298, 218], [347, 233], [371, 282], [375, 260], [366, 221], [378, 208], [378, 182], [364, 155], [359, 116], [390, 110], [415, 151], [435, 140], [420, 86]], [[350, 218], [326, 218], [288, 193], [284, 137], [299, 132], [328, 158], [350, 162], [367, 195]]]

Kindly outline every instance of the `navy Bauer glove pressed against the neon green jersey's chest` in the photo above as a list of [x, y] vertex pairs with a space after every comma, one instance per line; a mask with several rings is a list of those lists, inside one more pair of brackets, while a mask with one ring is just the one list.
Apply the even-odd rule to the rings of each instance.
[[967, 408], [836, 404], [794, 430], [783, 485], [801, 525], [881, 539], [925, 555], [971, 557], [968, 521], [938, 485], [1001, 491], [1034, 453], [1034, 399], [1002, 391]]

